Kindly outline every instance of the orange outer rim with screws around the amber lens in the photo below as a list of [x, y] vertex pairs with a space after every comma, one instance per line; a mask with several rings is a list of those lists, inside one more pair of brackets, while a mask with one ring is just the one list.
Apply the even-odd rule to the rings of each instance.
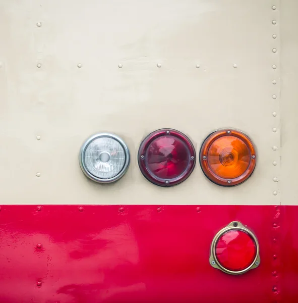
[[[236, 178], [222, 178], [222, 177], [216, 175], [215, 173], [212, 172], [211, 168], [208, 166], [208, 159], [203, 158], [203, 157], [207, 157], [208, 150], [209, 150], [210, 146], [212, 145], [212, 143], [215, 140], [217, 140], [218, 138], [224, 137], [224, 136], [234, 136], [236, 138], [241, 139], [242, 141], [244, 141], [244, 143], [247, 145], [247, 147], [250, 151], [251, 158], [250, 158], [250, 164], [249, 164], [248, 168], [246, 169], [246, 171], [243, 174], [241, 174], [240, 176], [238, 176]], [[231, 129], [231, 128], [225, 128], [225, 129], [219, 129], [219, 130], [216, 130], [216, 131], [210, 133], [204, 139], [204, 141], [201, 145], [201, 148], [200, 148], [199, 161], [200, 161], [201, 169], [208, 180], [210, 180], [212, 183], [214, 183], [216, 185], [230, 187], [230, 186], [242, 184], [243, 182], [245, 182], [252, 176], [252, 174], [256, 168], [257, 152], [256, 152], [256, 148], [255, 148], [253, 141], [244, 132], [242, 132], [240, 130]]]

